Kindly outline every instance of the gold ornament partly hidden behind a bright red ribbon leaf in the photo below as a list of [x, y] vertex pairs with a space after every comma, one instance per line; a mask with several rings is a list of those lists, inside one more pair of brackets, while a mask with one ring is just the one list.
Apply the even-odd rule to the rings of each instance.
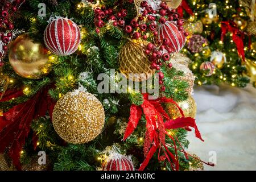
[[[196, 102], [192, 96], [189, 96], [188, 100], [186, 101], [178, 102], [178, 105], [183, 110], [185, 117], [191, 117], [191, 118], [196, 117]], [[175, 104], [171, 104], [171, 103], [166, 104], [166, 110], [172, 119], [182, 117], [179, 109]]]

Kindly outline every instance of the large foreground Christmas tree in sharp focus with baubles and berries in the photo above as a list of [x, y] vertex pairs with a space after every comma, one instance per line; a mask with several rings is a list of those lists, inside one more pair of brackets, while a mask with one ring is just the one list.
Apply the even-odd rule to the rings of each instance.
[[1, 168], [8, 155], [19, 170], [202, 169], [185, 151], [187, 131], [203, 138], [180, 3], [0, 5]]

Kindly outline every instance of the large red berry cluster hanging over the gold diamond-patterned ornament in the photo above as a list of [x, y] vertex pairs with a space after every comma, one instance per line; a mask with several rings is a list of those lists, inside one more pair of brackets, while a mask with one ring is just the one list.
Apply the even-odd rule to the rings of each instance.
[[[130, 1], [133, 3], [133, 0]], [[159, 40], [158, 28], [167, 21], [174, 22], [180, 32], [184, 36], [188, 36], [188, 32], [184, 31], [183, 19], [180, 19], [179, 14], [176, 9], [170, 9], [166, 2], [160, 3], [160, 9], [154, 10], [147, 1], [141, 2], [142, 13], [139, 17], [132, 19], [129, 23], [125, 22], [125, 17], [127, 15], [127, 10], [121, 9], [113, 13], [112, 9], [105, 9], [105, 7], [97, 7], [94, 10], [96, 17], [96, 32], [100, 32], [100, 28], [104, 27], [105, 20], [112, 20], [114, 26], [123, 28], [128, 34], [131, 34], [133, 39], [144, 39], [148, 40], [149, 35], [154, 36], [154, 43], [149, 43], [146, 48], [146, 55], [150, 57], [151, 68], [159, 71], [159, 84], [162, 85], [161, 90], [165, 91], [166, 88], [163, 85], [164, 74], [160, 71], [160, 67], [166, 65], [167, 68], [172, 68], [170, 63], [170, 53], [174, 52], [174, 49], [170, 47], [171, 40], [169, 38], [164, 38]], [[159, 14], [159, 16], [155, 16]]]

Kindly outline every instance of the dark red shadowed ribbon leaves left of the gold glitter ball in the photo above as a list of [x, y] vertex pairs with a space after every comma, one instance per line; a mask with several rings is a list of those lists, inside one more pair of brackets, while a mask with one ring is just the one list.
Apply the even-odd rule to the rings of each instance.
[[[30, 132], [32, 120], [43, 117], [47, 110], [52, 113], [55, 102], [48, 96], [48, 90], [49, 88], [40, 90], [30, 100], [14, 106], [0, 117], [0, 153], [5, 152], [6, 148], [9, 147], [8, 154], [18, 170], [21, 169], [20, 151], [22, 151]], [[3, 100], [6, 100], [6, 98], [3, 98]], [[34, 137], [34, 144], [36, 140], [36, 137]]]

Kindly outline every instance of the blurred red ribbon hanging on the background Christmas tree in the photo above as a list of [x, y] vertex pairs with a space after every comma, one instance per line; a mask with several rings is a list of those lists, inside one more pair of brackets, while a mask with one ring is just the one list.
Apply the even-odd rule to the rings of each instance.
[[242, 60], [245, 61], [245, 48], [243, 46], [243, 39], [244, 39], [244, 34], [239, 28], [237, 27], [236, 23], [233, 21], [226, 21], [226, 22], [221, 22], [221, 41], [224, 42], [224, 38], [227, 32], [232, 32], [233, 36], [232, 39], [234, 43], [237, 46], [237, 51], [238, 55], [242, 57]]

